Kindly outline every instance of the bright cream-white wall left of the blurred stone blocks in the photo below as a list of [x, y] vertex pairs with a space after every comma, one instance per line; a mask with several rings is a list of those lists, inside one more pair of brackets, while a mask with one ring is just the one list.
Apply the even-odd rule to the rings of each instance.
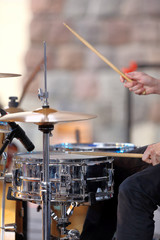
[[0, 73], [21, 77], [0, 79], [0, 103], [9, 96], [20, 96], [25, 72], [24, 55], [29, 44], [30, 0], [0, 0]]

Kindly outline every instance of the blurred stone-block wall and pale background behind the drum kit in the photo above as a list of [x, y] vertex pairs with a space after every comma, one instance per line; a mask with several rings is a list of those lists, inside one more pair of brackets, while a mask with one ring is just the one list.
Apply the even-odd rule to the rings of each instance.
[[[1, 72], [23, 74], [18, 80], [9, 79], [7, 86], [6, 79], [0, 79], [3, 105], [8, 96], [20, 97], [25, 82], [43, 57], [46, 41], [50, 107], [97, 115], [82, 123], [56, 125], [51, 144], [75, 142], [77, 129], [81, 142], [130, 141], [140, 146], [160, 141], [160, 97], [131, 93], [128, 105], [128, 90], [120, 83], [119, 75], [63, 25], [66, 22], [119, 69], [135, 61], [138, 71], [159, 78], [160, 1], [1, 0], [0, 4]], [[44, 90], [43, 75], [42, 67], [25, 93], [21, 103], [24, 110], [41, 107], [37, 91], [40, 87]], [[37, 129], [32, 124], [26, 127], [41, 149]]]

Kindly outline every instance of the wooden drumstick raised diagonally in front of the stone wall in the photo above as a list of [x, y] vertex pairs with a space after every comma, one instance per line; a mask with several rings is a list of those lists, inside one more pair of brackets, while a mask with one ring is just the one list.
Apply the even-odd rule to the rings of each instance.
[[76, 33], [72, 28], [70, 28], [66, 23], [63, 23], [66, 28], [68, 28], [84, 45], [86, 45], [91, 51], [93, 51], [99, 58], [101, 58], [106, 64], [108, 64], [114, 71], [116, 71], [120, 76], [125, 78], [128, 82], [132, 82], [123, 72], [121, 72], [116, 66], [114, 66], [106, 57], [104, 57], [100, 52], [98, 52], [89, 42], [82, 38], [78, 33]]

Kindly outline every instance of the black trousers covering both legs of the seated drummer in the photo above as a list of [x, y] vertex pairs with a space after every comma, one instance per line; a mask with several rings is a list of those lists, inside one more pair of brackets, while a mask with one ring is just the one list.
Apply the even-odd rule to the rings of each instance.
[[160, 204], [160, 164], [153, 167], [137, 158], [115, 158], [114, 169], [114, 197], [89, 207], [81, 240], [111, 240], [116, 229], [118, 240], [151, 240], [153, 212]]

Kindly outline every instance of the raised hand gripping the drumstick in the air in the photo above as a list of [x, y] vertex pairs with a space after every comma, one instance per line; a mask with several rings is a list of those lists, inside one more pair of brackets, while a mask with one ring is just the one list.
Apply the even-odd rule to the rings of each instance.
[[138, 95], [160, 94], [160, 80], [143, 72], [126, 73], [132, 82], [127, 82], [123, 77], [120, 81], [126, 88]]

